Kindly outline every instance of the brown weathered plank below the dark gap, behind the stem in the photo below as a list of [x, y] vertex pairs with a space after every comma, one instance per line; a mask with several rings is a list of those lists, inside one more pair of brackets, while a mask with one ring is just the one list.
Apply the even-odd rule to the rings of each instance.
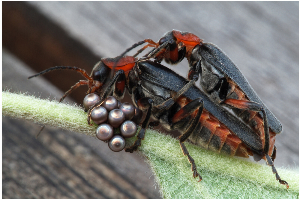
[[[61, 91], [2, 49], [3, 85], [53, 99]], [[4, 90], [5, 88], [2, 88]], [[72, 101], [68, 98], [67, 101]], [[2, 117], [2, 198], [156, 199], [152, 171], [137, 153], [113, 152], [94, 137]]]

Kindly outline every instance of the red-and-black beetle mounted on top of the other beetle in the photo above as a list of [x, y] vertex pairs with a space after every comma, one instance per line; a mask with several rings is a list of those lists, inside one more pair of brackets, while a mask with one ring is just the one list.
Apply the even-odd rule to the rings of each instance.
[[[147, 47], [155, 47], [143, 60], [154, 58], [161, 63], [176, 64], [187, 58], [189, 72], [187, 78], [200, 75], [200, 85], [217, 104], [229, 107], [246, 124], [259, 134], [265, 143], [265, 153], [276, 158], [275, 136], [282, 132], [282, 125], [273, 113], [265, 106], [253, 90], [247, 79], [230, 58], [216, 45], [203, 43], [203, 40], [189, 32], [177, 30], [164, 34], [158, 43], [151, 39], [143, 40], [131, 49], [143, 44], [136, 55]], [[268, 120], [266, 120], [268, 119]], [[262, 157], [254, 157], [258, 161]], [[265, 158], [264, 158], [265, 159]]]

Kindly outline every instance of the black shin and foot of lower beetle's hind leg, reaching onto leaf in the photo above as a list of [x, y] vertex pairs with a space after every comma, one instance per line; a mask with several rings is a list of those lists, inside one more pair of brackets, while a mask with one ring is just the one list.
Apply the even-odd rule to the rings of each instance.
[[200, 103], [198, 113], [197, 113], [196, 117], [193, 119], [193, 121], [192, 121], [190, 127], [187, 129], [187, 131], [179, 137], [179, 144], [180, 144], [180, 147], [182, 149], [183, 154], [185, 156], [187, 155], [187, 158], [188, 158], [189, 162], [191, 163], [191, 169], [192, 169], [192, 172], [193, 172], [193, 177], [196, 178], [196, 177], [199, 176], [199, 181], [201, 181], [202, 177], [200, 176], [200, 174], [197, 171], [195, 161], [190, 156], [189, 152], [187, 151], [186, 146], [183, 143], [193, 133], [193, 131], [195, 131], [195, 129], [196, 129], [198, 123], [199, 123], [199, 119], [201, 117], [202, 110], [203, 110], [203, 100], [199, 98], [198, 101]]

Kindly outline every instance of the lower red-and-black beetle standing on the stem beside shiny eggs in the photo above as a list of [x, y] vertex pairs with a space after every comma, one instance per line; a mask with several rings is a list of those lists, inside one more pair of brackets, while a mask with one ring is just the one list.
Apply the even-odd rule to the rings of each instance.
[[[230, 156], [265, 156], [268, 164], [272, 166], [272, 172], [276, 174], [276, 179], [288, 187], [288, 183], [280, 179], [270, 156], [264, 154], [264, 144], [259, 135], [196, 87], [196, 75], [188, 81], [160, 63], [121, 56], [101, 59], [94, 66], [90, 76], [85, 70], [77, 67], [58, 66], [32, 77], [55, 69], [72, 69], [88, 79], [79, 81], [73, 89], [87, 84], [88, 93], [102, 94], [101, 100], [88, 110], [90, 125], [91, 110], [100, 106], [110, 93], [117, 99], [122, 99], [125, 89], [131, 95], [135, 106], [147, 112], [137, 140], [125, 151], [132, 153], [138, 149], [152, 116], [167, 130], [177, 129], [182, 133], [179, 137], [180, 146], [191, 163], [193, 177], [199, 177], [199, 181], [202, 178], [196, 169], [195, 161], [184, 145], [188, 138], [205, 149]], [[116, 72], [108, 82], [112, 70]], [[72, 91], [72, 88], [67, 93]]]

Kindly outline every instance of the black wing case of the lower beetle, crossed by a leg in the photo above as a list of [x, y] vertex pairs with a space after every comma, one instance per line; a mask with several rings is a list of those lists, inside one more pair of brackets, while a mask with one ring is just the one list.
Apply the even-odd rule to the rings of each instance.
[[[188, 83], [186, 79], [159, 63], [143, 61], [139, 63], [139, 69], [141, 70], [140, 78], [143, 81], [156, 84], [174, 92], [179, 91]], [[194, 85], [191, 86], [184, 93], [184, 96], [191, 100], [201, 97], [204, 102], [204, 108], [208, 110], [208, 112], [214, 115], [227, 128], [233, 131], [236, 136], [243, 141], [243, 143], [250, 147], [251, 150], [257, 152], [258, 154], [263, 154], [263, 145], [259, 136], [223, 107], [215, 104], [198, 87]]]

